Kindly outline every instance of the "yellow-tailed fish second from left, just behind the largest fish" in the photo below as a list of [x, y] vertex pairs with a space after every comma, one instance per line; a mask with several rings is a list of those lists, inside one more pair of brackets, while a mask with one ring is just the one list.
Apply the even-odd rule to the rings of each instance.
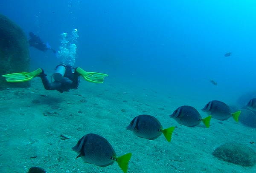
[[163, 134], [168, 142], [171, 142], [172, 132], [175, 127], [163, 129], [161, 123], [151, 115], [138, 115], [126, 127], [136, 136], [144, 139], [154, 140]]

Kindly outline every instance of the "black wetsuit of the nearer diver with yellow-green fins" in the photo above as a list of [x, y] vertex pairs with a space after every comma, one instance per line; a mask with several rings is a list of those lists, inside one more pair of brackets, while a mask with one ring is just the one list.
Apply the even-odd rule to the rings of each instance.
[[41, 77], [46, 90], [57, 90], [61, 93], [64, 91], [69, 91], [69, 89], [77, 89], [80, 82], [79, 74], [76, 72], [76, 70], [73, 73], [70, 65], [67, 65], [64, 77], [60, 82], [49, 82], [43, 69], [39, 76]]

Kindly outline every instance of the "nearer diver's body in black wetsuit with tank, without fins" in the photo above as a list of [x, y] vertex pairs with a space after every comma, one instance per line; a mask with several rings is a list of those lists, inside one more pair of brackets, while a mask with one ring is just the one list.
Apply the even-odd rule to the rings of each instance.
[[46, 77], [47, 75], [44, 74], [44, 70], [41, 68], [42, 73], [38, 76], [41, 77], [44, 88], [46, 90], [57, 90], [61, 93], [64, 91], [69, 91], [69, 89], [77, 89], [80, 82], [78, 72], [76, 70], [73, 72], [72, 69], [74, 68], [70, 65], [59, 64], [57, 65], [56, 69], [58, 70], [58, 68], [62, 68], [64, 76], [56, 72], [53, 74], [53, 77], [55, 78], [54, 82], [49, 82]]

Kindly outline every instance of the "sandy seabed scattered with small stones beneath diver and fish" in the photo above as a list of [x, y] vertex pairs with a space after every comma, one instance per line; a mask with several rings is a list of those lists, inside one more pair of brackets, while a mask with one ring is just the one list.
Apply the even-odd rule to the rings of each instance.
[[[30, 88], [0, 91], [0, 172], [25, 173], [38, 166], [47, 173], [122, 173], [117, 163], [97, 167], [75, 159], [71, 148], [85, 134], [96, 133], [111, 143], [117, 156], [133, 154], [128, 173], [255, 173], [256, 165], [242, 167], [212, 156], [226, 142], [256, 150], [256, 144], [250, 144], [256, 142], [255, 128], [231, 118], [212, 119], [210, 128], [189, 128], [169, 117], [181, 105], [194, 106], [205, 117], [200, 111], [205, 104], [199, 98], [108, 82], [83, 81], [79, 89], [60, 94], [44, 90], [36, 78]], [[140, 114], [155, 116], [163, 128], [176, 126], [172, 141], [163, 135], [141, 139], [126, 130]]]

